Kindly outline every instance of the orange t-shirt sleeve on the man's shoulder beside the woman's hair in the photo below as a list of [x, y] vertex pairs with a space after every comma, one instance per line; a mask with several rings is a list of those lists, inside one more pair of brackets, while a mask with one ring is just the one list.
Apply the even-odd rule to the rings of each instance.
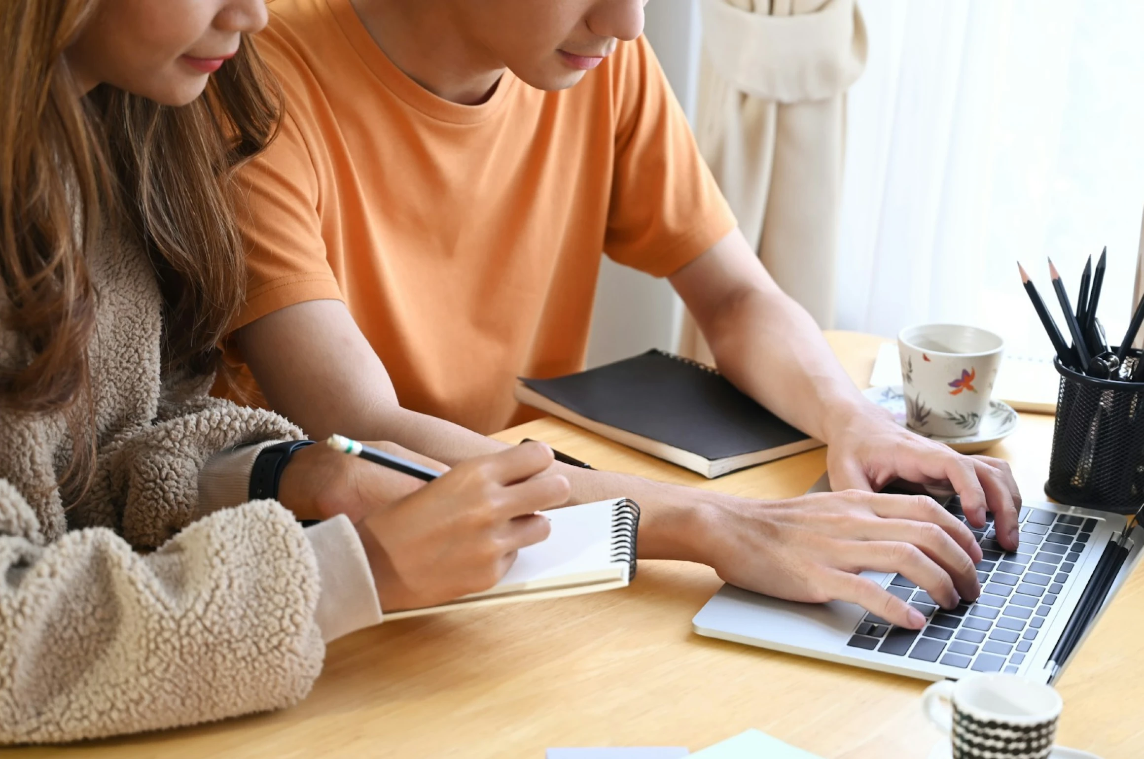
[[295, 303], [342, 299], [321, 234], [318, 171], [289, 107], [287, 94], [277, 137], [236, 178], [248, 280], [232, 329]]

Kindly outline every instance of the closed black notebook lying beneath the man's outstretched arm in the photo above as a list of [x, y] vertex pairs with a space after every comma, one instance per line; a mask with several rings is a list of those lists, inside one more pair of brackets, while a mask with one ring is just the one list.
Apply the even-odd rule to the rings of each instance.
[[516, 399], [704, 477], [823, 445], [715, 369], [656, 350], [554, 380], [521, 378]]

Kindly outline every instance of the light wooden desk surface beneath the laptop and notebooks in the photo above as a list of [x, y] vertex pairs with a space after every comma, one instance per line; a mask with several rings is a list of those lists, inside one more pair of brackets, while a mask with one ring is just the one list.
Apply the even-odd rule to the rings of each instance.
[[[881, 338], [829, 335], [866, 385]], [[1052, 417], [1023, 415], [992, 453], [1043, 498]], [[797, 495], [825, 470], [810, 452], [718, 480], [555, 420], [508, 430], [601, 468], [760, 498]], [[225, 722], [11, 757], [483, 757], [548, 746], [686, 745], [757, 727], [821, 757], [922, 759], [937, 741], [925, 684], [712, 640], [691, 617], [720, 588], [707, 567], [643, 561], [621, 591], [387, 623], [335, 641], [299, 706]], [[1136, 572], [1059, 684], [1058, 740], [1105, 759], [1141, 757], [1144, 573]]]

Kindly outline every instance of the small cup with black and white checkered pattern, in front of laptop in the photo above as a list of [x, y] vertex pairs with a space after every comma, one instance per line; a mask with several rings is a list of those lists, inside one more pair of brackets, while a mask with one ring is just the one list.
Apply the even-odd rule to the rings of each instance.
[[1046, 759], [1060, 694], [1015, 674], [978, 674], [925, 688], [922, 709], [950, 735], [953, 759]]

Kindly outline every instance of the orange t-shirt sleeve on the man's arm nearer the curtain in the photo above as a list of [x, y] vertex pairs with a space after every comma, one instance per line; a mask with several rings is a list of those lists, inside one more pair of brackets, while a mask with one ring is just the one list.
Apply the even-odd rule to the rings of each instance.
[[645, 38], [618, 50], [615, 167], [604, 250], [667, 277], [737, 222], [699, 154], [688, 119]]

